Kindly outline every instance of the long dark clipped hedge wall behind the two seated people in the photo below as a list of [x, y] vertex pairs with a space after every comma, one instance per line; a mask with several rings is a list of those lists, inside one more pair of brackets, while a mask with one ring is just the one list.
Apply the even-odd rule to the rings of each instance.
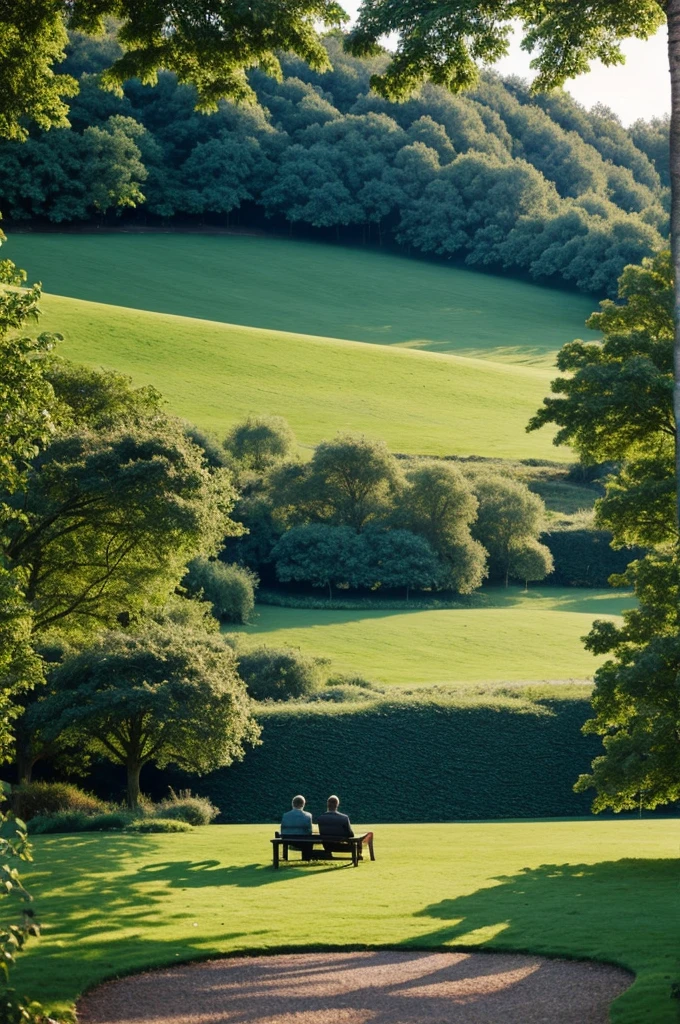
[[314, 813], [337, 793], [365, 822], [584, 815], [591, 798], [571, 786], [601, 751], [581, 733], [589, 714], [585, 699], [269, 707], [262, 745], [243, 762], [203, 779], [154, 772], [142, 785], [190, 784], [223, 822], [277, 821], [296, 793]]

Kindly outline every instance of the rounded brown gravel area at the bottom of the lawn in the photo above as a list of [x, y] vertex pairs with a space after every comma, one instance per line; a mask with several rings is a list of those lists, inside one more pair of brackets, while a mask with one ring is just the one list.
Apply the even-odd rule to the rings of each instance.
[[606, 1024], [619, 968], [514, 953], [238, 957], [108, 982], [82, 1024]]

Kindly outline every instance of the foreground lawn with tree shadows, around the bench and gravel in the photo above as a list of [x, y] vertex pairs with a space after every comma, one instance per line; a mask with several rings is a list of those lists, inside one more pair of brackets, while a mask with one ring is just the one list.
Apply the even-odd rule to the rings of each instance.
[[221, 952], [486, 946], [620, 964], [637, 978], [614, 1024], [677, 1021], [677, 819], [380, 825], [357, 870], [274, 872], [271, 830], [39, 840], [44, 932], [17, 987], [63, 1011], [107, 977]]

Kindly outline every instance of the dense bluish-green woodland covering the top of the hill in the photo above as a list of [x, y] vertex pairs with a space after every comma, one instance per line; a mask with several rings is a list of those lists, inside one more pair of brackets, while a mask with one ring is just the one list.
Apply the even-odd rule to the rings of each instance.
[[668, 120], [625, 129], [606, 109], [492, 74], [464, 95], [426, 85], [393, 103], [369, 86], [386, 55], [350, 57], [337, 34], [326, 45], [333, 71], [284, 55], [282, 82], [250, 75], [260, 106], [206, 116], [169, 74], [102, 91], [113, 29], [72, 36], [72, 128], [0, 145], [3, 216], [63, 224], [142, 204], [130, 216], [274, 218], [610, 294], [624, 266], [663, 248]]

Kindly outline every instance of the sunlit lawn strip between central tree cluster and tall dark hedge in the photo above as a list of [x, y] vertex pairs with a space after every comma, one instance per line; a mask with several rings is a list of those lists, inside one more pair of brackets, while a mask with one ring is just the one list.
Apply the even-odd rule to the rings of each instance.
[[[488, 588], [469, 608], [326, 611], [258, 605], [241, 631], [330, 657], [339, 672], [387, 684], [587, 679], [603, 658], [581, 638], [631, 605], [612, 591]], [[225, 627], [232, 630], [233, 627]]]

